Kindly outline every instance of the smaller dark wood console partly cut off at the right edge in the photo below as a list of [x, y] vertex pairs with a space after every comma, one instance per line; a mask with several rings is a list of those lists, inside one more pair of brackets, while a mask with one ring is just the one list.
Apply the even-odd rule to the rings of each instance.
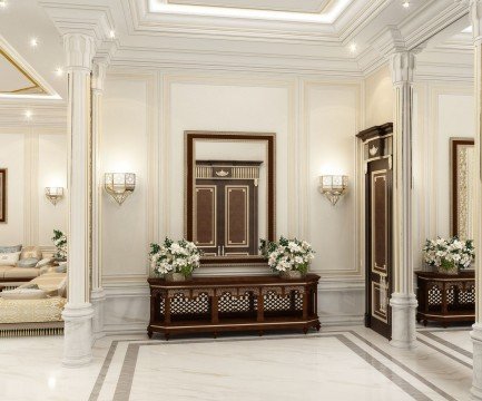
[[461, 272], [449, 275], [432, 272], [415, 272], [417, 277], [419, 310], [416, 321], [442, 322], [446, 327], [453, 322], [475, 320], [475, 275]]

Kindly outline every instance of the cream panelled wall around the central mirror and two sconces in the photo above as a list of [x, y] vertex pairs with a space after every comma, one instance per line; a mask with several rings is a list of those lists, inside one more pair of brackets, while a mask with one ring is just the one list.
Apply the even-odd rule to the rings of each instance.
[[[106, 331], [145, 331], [149, 315], [147, 250], [184, 236], [184, 131], [276, 134], [276, 231], [313, 242], [322, 275], [323, 323], [361, 322], [355, 134], [360, 82], [301, 78], [110, 71], [101, 169], [136, 173], [122, 206], [102, 198]], [[336, 207], [319, 194], [322, 173], [345, 173], [351, 189]], [[197, 274], [262, 274], [267, 267], [203, 267]]]

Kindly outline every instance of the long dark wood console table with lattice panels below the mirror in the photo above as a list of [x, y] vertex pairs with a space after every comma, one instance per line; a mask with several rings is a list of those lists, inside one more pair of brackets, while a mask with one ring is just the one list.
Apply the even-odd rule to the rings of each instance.
[[149, 278], [150, 322], [154, 332], [170, 334], [225, 331], [319, 330], [319, 276], [301, 280], [278, 276], [195, 277], [186, 282]]

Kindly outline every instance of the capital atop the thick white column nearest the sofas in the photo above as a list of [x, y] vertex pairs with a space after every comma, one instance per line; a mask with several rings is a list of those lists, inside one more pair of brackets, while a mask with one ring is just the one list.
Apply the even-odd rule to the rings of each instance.
[[85, 33], [63, 35], [63, 49], [66, 51], [66, 68], [80, 68], [91, 70], [92, 59], [96, 55], [94, 37]]

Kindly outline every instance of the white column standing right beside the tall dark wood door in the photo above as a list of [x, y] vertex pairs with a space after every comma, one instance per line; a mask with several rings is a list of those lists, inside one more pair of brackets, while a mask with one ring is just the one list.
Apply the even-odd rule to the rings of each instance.
[[396, 51], [390, 57], [395, 95], [393, 125], [393, 294], [392, 341], [396, 348], [416, 345], [416, 297], [412, 264], [412, 106], [415, 56]]

